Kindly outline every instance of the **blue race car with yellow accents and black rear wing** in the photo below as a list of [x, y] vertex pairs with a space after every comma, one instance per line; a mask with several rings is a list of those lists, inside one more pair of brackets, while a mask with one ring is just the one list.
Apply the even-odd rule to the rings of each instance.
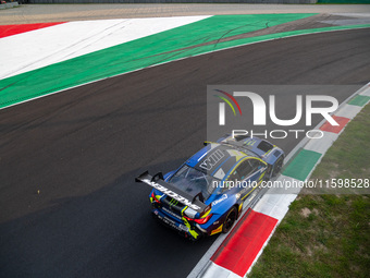
[[152, 186], [152, 216], [190, 240], [229, 232], [243, 204], [261, 182], [276, 176], [284, 152], [266, 140], [230, 135], [205, 147], [163, 176], [135, 180]]

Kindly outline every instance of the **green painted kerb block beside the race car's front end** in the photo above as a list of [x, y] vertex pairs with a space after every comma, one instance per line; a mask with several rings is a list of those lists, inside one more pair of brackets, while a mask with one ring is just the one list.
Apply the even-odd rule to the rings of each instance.
[[320, 157], [321, 154], [319, 153], [303, 149], [293, 159], [293, 161], [287, 165], [282, 174], [305, 181], [316, 164], [319, 161]]

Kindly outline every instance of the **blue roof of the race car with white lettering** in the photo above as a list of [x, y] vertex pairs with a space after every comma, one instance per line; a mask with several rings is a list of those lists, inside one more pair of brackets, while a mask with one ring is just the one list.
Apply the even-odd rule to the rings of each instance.
[[239, 150], [230, 144], [209, 143], [185, 164], [209, 176], [221, 179], [240, 160], [256, 157], [252, 153]]

